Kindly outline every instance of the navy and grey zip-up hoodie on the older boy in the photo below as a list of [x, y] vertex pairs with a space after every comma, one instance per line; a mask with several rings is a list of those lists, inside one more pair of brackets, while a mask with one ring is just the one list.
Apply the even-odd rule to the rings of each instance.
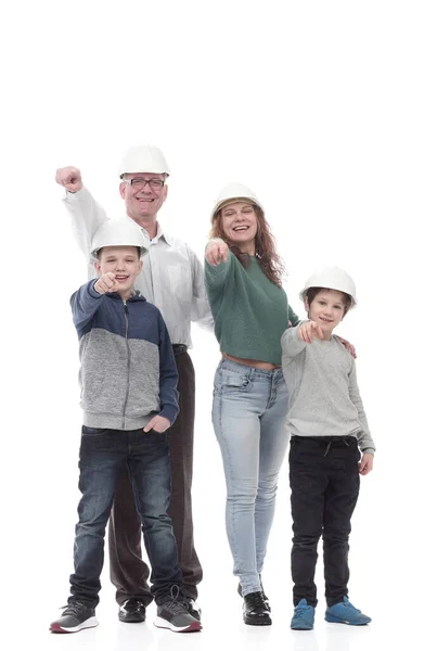
[[178, 371], [157, 307], [137, 292], [127, 301], [99, 294], [95, 278], [73, 294], [79, 336], [83, 424], [139, 430], [156, 413], [172, 424], [179, 412]]

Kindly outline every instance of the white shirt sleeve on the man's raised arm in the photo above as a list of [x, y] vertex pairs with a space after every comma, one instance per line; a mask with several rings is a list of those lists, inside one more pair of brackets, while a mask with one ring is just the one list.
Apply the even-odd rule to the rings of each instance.
[[92, 238], [98, 228], [108, 220], [108, 217], [85, 187], [75, 193], [67, 192], [63, 202], [72, 216], [73, 234], [87, 258], [89, 264], [88, 277], [91, 279], [95, 276], [95, 269], [90, 259]]

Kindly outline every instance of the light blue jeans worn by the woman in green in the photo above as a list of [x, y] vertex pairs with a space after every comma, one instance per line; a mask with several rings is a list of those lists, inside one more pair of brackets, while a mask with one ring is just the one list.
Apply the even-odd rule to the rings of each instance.
[[278, 475], [288, 448], [288, 392], [282, 369], [222, 359], [214, 382], [213, 423], [227, 483], [226, 525], [243, 595], [260, 590]]

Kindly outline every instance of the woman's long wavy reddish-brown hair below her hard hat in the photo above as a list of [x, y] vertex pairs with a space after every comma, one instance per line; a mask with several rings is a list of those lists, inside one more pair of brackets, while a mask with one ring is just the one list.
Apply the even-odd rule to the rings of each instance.
[[[274, 237], [270, 231], [270, 226], [266, 221], [266, 217], [261, 208], [249, 201], [247, 203], [254, 206], [258, 224], [257, 232], [255, 235], [255, 256], [258, 259], [258, 265], [261, 267], [267, 278], [272, 283], [281, 288], [282, 277], [285, 273], [285, 266], [282, 258], [277, 253], [277, 244], [274, 241]], [[228, 244], [229, 248], [232, 251], [237, 260], [243, 265], [245, 269], [247, 269], [247, 267], [250, 264], [250, 256], [247, 253], [243, 253], [242, 251], [240, 251], [240, 248], [232, 244], [224, 234], [221, 219], [221, 210], [223, 207], [224, 206], [221, 206], [221, 208], [217, 210], [217, 213], [214, 215], [213, 228], [209, 232], [209, 237], [221, 238], [221, 240], [224, 240], [224, 242]]]

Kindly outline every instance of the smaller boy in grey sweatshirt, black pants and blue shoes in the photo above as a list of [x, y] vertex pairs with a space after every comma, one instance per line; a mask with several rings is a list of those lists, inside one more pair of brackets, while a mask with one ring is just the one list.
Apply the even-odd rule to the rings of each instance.
[[[313, 628], [317, 547], [323, 536], [327, 622], [364, 625], [371, 618], [348, 600], [348, 538], [360, 474], [373, 468], [375, 445], [357, 384], [355, 360], [333, 330], [356, 304], [351, 278], [337, 267], [314, 272], [300, 292], [308, 321], [282, 336], [290, 391], [292, 628]], [[362, 452], [362, 456], [360, 454]]]

